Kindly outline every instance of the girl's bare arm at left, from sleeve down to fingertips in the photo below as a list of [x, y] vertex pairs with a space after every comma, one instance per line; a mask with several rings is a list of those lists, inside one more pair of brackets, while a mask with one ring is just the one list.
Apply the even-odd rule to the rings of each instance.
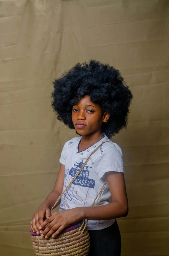
[[[39, 234], [39, 226], [44, 222], [44, 216], [46, 216], [46, 218], [51, 216], [50, 209], [55, 204], [56, 200], [58, 199], [58, 197], [60, 196], [63, 190], [64, 175], [65, 175], [65, 165], [60, 164], [59, 173], [57, 175], [53, 190], [46, 197], [45, 201], [38, 207], [37, 211], [32, 217], [30, 227], [34, 233]], [[55, 207], [57, 207], [59, 203], [60, 203], [60, 200]]]

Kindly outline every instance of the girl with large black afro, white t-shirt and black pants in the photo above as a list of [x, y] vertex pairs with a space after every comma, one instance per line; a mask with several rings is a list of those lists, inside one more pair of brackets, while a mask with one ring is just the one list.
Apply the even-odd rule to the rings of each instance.
[[[58, 120], [80, 136], [65, 143], [55, 186], [33, 215], [31, 230], [41, 237], [55, 237], [67, 226], [88, 219], [89, 256], [119, 256], [121, 235], [116, 218], [127, 216], [128, 200], [123, 153], [110, 138], [126, 128], [133, 95], [117, 69], [96, 60], [77, 63], [53, 84], [52, 106]], [[51, 215], [63, 189], [99, 145], [57, 203], [59, 212]], [[98, 206], [91, 207], [106, 180]]]

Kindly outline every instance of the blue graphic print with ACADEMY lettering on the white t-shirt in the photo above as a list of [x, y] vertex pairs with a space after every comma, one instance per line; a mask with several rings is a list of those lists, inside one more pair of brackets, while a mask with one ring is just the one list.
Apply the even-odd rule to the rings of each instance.
[[[69, 183], [72, 180], [72, 178], [69, 175], [74, 177], [83, 164], [84, 163], [83, 163], [83, 160], [82, 160], [82, 162], [77, 163], [77, 165], [75, 164], [74, 168], [72, 167], [70, 171], [69, 171], [69, 169], [65, 169], [64, 189], [69, 185]], [[92, 168], [92, 167], [85, 166], [82, 169], [82, 171], [80, 172], [80, 174], [77, 176], [77, 178], [74, 180], [72, 185], [66, 190], [66, 192], [64, 193], [64, 195], [61, 198], [59, 211], [69, 209], [70, 208], [69, 202], [71, 202], [72, 200], [74, 200], [75, 202], [77, 202], [77, 201], [83, 202], [84, 201], [84, 206], [86, 206], [87, 200], [88, 200], [88, 197], [89, 197], [89, 192], [90, 192], [91, 188], [95, 187], [95, 180], [89, 179], [89, 170], [88, 170], [89, 168]], [[69, 175], [68, 175], [68, 173], [69, 173]], [[77, 194], [77, 191], [74, 190], [73, 184], [88, 188], [88, 190], [86, 192], [86, 195], [84, 194], [84, 196], [85, 196], [84, 199], [82, 199]]]

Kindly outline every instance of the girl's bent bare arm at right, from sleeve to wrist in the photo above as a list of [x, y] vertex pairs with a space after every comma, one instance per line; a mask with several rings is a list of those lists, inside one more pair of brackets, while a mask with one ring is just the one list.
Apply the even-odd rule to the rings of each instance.
[[90, 220], [108, 220], [125, 217], [128, 214], [128, 200], [124, 173], [105, 173], [109, 184], [112, 203], [102, 206], [81, 207], [82, 218]]

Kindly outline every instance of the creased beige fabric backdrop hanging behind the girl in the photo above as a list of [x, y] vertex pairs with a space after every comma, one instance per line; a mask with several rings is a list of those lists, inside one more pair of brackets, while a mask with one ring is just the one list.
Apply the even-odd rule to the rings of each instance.
[[169, 1], [0, 0], [0, 254], [33, 256], [29, 224], [54, 186], [64, 143], [52, 81], [94, 57], [134, 99], [123, 150], [129, 214], [122, 255], [169, 255]]

